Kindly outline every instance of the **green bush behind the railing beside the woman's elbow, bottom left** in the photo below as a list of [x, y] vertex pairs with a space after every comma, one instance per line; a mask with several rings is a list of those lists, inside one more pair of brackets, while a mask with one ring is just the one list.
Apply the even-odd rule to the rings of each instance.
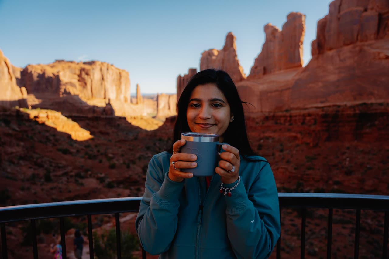
[[[132, 259], [132, 252], [139, 249], [139, 240], [130, 231], [121, 231], [121, 258]], [[100, 236], [93, 233], [93, 246], [95, 258], [97, 259], [114, 259], [117, 258], [116, 252], [116, 229], [110, 229]]]

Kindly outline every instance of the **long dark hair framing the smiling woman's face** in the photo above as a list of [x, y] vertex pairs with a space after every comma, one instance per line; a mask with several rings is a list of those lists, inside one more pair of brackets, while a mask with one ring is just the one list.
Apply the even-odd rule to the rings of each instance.
[[[242, 102], [240, 99], [237, 87], [231, 77], [225, 71], [215, 69], [200, 71], [193, 75], [187, 83], [177, 104], [178, 114], [174, 125], [173, 142], [168, 151], [170, 153], [173, 152], [173, 143], [181, 139], [182, 132], [191, 131], [186, 118], [189, 98], [193, 90], [198, 85], [204, 85], [207, 83], [214, 83], [216, 87], [223, 92], [228, 104], [230, 105], [231, 113], [234, 115], [234, 121], [228, 125], [226, 132], [223, 134], [223, 142], [239, 149], [239, 153], [242, 156], [247, 157], [257, 155], [250, 146], [249, 138], [246, 132], [246, 120], [242, 106], [242, 103], [245, 102]], [[250, 158], [248, 159], [251, 160]]]

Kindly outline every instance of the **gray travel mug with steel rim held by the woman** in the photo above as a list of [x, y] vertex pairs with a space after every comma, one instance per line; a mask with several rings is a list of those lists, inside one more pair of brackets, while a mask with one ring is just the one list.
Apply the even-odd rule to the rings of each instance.
[[181, 147], [182, 153], [194, 154], [197, 156], [196, 168], [184, 168], [182, 172], [191, 172], [194, 176], [212, 176], [219, 162], [221, 146], [226, 143], [219, 143], [219, 134], [205, 134], [199, 132], [183, 132], [181, 139], [186, 143]]

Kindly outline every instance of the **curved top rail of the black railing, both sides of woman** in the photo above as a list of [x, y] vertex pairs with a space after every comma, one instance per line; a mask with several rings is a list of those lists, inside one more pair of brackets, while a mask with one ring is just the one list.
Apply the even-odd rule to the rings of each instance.
[[[389, 211], [389, 196], [339, 193], [279, 193], [282, 208], [338, 208]], [[0, 207], [0, 223], [53, 217], [137, 212], [142, 197], [124, 197]]]

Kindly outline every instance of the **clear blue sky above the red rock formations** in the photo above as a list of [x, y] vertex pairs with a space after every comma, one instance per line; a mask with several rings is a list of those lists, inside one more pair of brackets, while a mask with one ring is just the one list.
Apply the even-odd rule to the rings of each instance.
[[290, 12], [306, 15], [304, 63], [330, 0], [100, 1], [0, 0], [0, 49], [15, 66], [55, 59], [99, 60], [130, 73], [131, 92], [174, 93], [177, 76], [199, 68], [204, 50], [229, 31], [246, 75], [265, 41]]

